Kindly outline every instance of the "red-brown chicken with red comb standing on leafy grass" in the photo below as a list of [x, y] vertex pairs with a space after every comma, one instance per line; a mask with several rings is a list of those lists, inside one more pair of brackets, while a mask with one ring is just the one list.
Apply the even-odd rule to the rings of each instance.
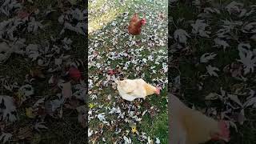
[[138, 35], [141, 34], [142, 26], [146, 25], [146, 18], [138, 18], [138, 14], [135, 13], [130, 19], [130, 24], [128, 26], [129, 34]]

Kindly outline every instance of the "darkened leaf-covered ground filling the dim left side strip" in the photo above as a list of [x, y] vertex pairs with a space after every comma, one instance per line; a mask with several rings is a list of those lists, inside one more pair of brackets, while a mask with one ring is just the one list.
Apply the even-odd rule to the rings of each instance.
[[86, 143], [86, 2], [0, 1], [1, 143]]

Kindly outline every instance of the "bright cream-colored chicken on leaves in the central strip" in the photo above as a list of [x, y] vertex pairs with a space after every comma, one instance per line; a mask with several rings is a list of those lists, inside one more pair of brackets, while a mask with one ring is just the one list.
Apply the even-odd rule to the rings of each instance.
[[126, 79], [116, 81], [118, 92], [123, 99], [134, 101], [135, 98], [146, 98], [151, 94], [160, 94], [158, 87], [146, 83], [143, 79]]

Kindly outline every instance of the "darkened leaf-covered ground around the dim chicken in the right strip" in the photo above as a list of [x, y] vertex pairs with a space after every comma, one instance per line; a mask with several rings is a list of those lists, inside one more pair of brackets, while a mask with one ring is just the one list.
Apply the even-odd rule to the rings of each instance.
[[171, 92], [188, 106], [229, 121], [229, 143], [256, 141], [253, 4], [198, 0], [191, 5], [170, 3]]

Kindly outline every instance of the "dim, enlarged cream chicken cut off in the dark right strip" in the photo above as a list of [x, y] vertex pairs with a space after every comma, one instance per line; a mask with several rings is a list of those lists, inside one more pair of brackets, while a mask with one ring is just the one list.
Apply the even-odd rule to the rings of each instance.
[[170, 143], [199, 144], [210, 139], [229, 141], [230, 130], [226, 122], [206, 117], [170, 94]]

